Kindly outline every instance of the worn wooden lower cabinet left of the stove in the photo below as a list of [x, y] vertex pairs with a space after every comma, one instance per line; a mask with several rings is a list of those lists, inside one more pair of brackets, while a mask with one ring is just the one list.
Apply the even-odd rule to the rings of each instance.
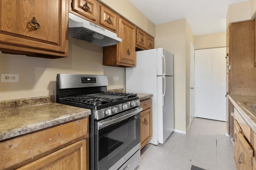
[[88, 117], [0, 142], [0, 169], [89, 169]]

